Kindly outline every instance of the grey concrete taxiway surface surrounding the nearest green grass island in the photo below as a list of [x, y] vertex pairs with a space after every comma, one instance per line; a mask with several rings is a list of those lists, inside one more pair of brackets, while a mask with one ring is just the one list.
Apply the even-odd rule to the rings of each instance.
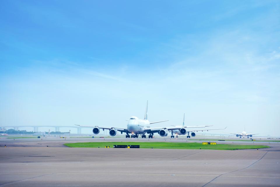
[[[272, 148], [234, 151], [63, 146], [65, 142], [83, 141], [127, 140], [125, 138], [13, 140], [1, 137], [0, 186], [255, 187], [279, 186], [280, 183], [280, 146], [277, 142], [256, 142], [272, 145]], [[252, 144], [250, 141], [245, 143]], [[7, 147], [3, 147], [3, 144]]]

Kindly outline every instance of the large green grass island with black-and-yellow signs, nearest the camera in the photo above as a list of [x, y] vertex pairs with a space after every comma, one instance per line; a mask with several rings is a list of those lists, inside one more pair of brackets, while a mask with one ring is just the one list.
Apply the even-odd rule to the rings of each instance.
[[105, 146], [114, 147], [113, 145], [140, 145], [140, 148], [156, 148], [156, 149], [218, 149], [218, 150], [236, 150], [236, 149], [256, 149], [269, 148], [262, 145], [202, 145], [200, 143], [173, 143], [173, 142], [84, 142], [84, 143], [67, 143], [68, 147], [90, 147], [104, 148]]

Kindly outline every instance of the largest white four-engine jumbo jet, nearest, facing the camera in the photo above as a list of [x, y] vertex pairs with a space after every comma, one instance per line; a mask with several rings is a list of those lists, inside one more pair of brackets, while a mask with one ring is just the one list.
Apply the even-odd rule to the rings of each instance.
[[[130, 138], [130, 134], [132, 138], [138, 138], [138, 135], [141, 135], [142, 138], [146, 138], [146, 133], [149, 134], [149, 138], [153, 138], [154, 133], [158, 133], [160, 136], [165, 137], [168, 135], [169, 131], [175, 131], [179, 132], [179, 134], [186, 134], [188, 131], [185, 129], [188, 126], [172, 126], [172, 127], [144, 127], [144, 125], [150, 125], [153, 123], [160, 123], [164, 121], [156, 121], [156, 122], [149, 122], [148, 120], [148, 101], [146, 104], [146, 110], [145, 110], [145, 116], [144, 119], [139, 119], [135, 116], [131, 116], [129, 120], [127, 120], [127, 128], [123, 127], [110, 127], [110, 126], [100, 126], [100, 125], [78, 125], [80, 127], [93, 127], [92, 132], [94, 134], [98, 134], [100, 132], [100, 129], [104, 130], [107, 129], [109, 130], [110, 136], [115, 136], [117, 134], [117, 131], [120, 131], [121, 134], [124, 132], [126, 133], [126, 138]], [[206, 126], [189, 126], [189, 127], [206, 127]], [[177, 130], [177, 131], [176, 131]], [[209, 130], [214, 130], [214, 129], [209, 129]], [[195, 136], [195, 131], [203, 131], [203, 130], [192, 130], [190, 132], [192, 136]], [[173, 134], [172, 132], [172, 134]], [[188, 132], [189, 133], [189, 132]], [[174, 137], [174, 136], [172, 136]], [[188, 136], [190, 137], [190, 136]]]

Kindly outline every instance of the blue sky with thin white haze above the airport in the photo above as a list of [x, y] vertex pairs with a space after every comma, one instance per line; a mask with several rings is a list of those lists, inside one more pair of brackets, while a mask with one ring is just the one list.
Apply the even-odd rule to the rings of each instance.
[[148, 100], [153, 127], [279, 137], [279, 93], [279, 1], [1, 2], [1, 127], [126, 127]]

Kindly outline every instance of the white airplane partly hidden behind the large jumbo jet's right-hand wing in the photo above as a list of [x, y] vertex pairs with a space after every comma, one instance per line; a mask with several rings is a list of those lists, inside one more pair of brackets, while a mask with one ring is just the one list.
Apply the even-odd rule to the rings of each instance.
[[[201, 127], [210, 127], [210, 126], [213, 126], [213, 125], [205, 125], [205, 126], [185, 126], [185, 113], [184, 113], [184, 118], [183, 118], [183, 125], [179, 125], [179, 126], [174, 126], [174, 127], [180, 127], [181, 129], [180, 130], [171, 130], [171, 138], [174, 138], [174, 135], [173, 134], [176, 134], [176, 138], [178, 138], [178, 135], [185, 135], [188, 133], [188, 136], [187, 138], [190, 138], [190, 135], [192, 137], [195, 137], [195, 131], [198, 132], [198, 131], [209, 131], [209, 130], [220, 130], [220, 129], [204, 129], [204, 130], [188, 130], [186, 128], [201, 128]], [[225, 127], [227, 128], [227, 127]], [[225, 129], [224, 128], [224, 129]], [[190, 134], [191, 132], [191, 134]]]

